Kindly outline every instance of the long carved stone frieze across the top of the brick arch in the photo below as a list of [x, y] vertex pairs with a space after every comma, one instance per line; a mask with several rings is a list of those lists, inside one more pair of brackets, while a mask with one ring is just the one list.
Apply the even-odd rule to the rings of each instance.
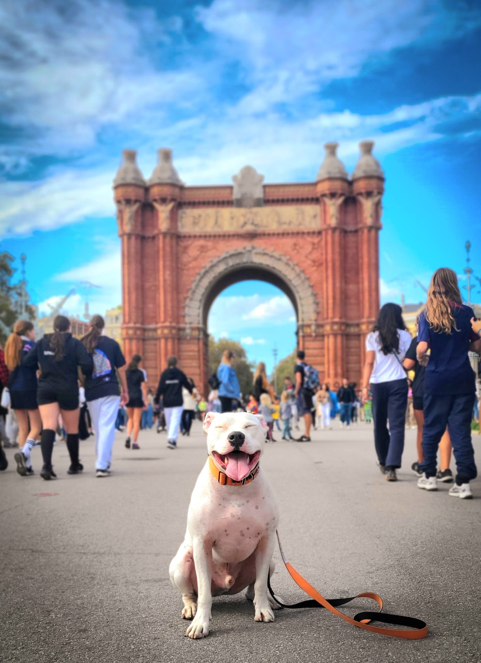
[[321, 217], [317, 205], [279, 206], [268, 208], [180, 210], [179, 231], [212, 233], [259, 230], [319, 230]]

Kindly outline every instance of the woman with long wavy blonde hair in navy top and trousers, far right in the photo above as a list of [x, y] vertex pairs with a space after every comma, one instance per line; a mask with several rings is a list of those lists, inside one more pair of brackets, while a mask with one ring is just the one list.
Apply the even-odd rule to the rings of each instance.
[[476, 387], [468, 351], [481, 351], [481, 340], [472, 329], [472, 320], [474, 312], [462, 304], [456, 272], [447, 267], [437, 269], [431, 278], [417, 333], [417, 361], [426, 366], [424, 460], [418, 465], [423, 476], [417, 486], [427, 491], [437, 490], [437, 449], [447, 426], [457, 469], [456, 483], [449, 495], [461, 499], [472, 497], [469, 482], [477, 476], [471, 441]]

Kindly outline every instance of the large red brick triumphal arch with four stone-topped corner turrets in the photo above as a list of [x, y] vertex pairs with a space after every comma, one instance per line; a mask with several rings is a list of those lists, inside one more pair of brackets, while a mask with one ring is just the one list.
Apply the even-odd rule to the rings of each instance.
[[185, 186], [168, 149], [146, 181], [136, 152], [123, 152], [114, 180], [122, 336], [127, 357], [144, 358], [149, 383], [174, 354], [206, 384], [209, 309], [227, 286], [252, 278], [290, 298], [298, 346], [323, 378], [360, 380], [379, 309], [384, 174], [372, 146], [360, 143], [350, 177], [337, 143], [327, 143], [315, 182], [264, 184], [245, 166], [233, 186]]

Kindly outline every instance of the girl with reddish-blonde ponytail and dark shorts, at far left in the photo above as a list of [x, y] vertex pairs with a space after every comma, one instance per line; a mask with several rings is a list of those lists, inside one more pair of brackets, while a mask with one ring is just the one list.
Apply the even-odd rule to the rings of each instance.
[[22, 359], [35, 345], [35, 328], [30, 320], [17, 320], [13, 333], [5, 343], [5, 363], [10, 371], [9, 391], [11, 408], [19, 422], [19, 453], [15, 453], [17, 472], [21, 477], [34, 473], [30, 451], [42, 430], [42, 420], [36, 402], [36, 368], [22, 366]]

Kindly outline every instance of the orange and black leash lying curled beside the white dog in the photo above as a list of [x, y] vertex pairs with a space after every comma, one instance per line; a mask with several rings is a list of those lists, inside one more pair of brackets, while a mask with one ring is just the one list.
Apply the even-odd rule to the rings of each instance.
[[[404, 617], [403, 615], [390, 615], [389, 613], [382, 612], [382, 598], [377, 594], [374, 594], [370, 591], [365, 591], [362, 594], [352, 596], [345, 599], [325, 599], [317, 589], [314, 589], [305, 578], [298, 573], [295, 568], [288, 562], [286, 556], [284, 555], [284, 550], [282, 550], [282, 545], [279, 538], [279, 532], [276, 532], [277, 539], [279, 543], [279, 549], [282, 556], [282, 560], [286, 565], [286, 569], [290, 573], [290, 576], [297, 585], [305, 593], [307, 593], [311, 600], [300, 601], [299, 603], [294, 603], [293, 605], [286, 605], [281, 603], [279, 599], [274, 595], [272, 587], [270, 586], [270, 575], [268, 577], [267, 585], [272, 595], [272, 598], [283, 608], [325, 608], [329, 610], [333, 615], [341, 617], [344, 621], [347, 621], [348, 624], [358, 627], [359, 629], [364, 629], [365, 631], [372, 631], [372, 633], [379, 633], [380, 635], [388, 635], [392, 638], [405, 638], [407, 640], [421, 640], [427, 636], [427, 624], [421, 619], [416, 619], [415, 617]], [[337, 610], [337, 606], [345, 605], [354, 599], [373, 599], [379, 605], [379, 612], [364, 611], [354, 615], [354, 617], [348, 617], [341, 611]], [[381, 622], [383, 624], [392, 624], [401, 627], [407, 627], [407, 629], [385, 629], [383, 627], [377, 627], [370, 625], [371, 621]]]

